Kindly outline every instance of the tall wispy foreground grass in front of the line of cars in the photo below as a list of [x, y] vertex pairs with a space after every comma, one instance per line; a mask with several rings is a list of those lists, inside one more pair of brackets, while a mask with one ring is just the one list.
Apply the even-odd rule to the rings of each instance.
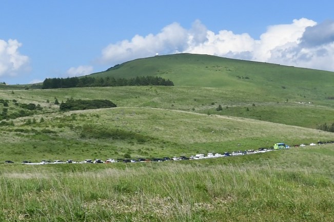
[[[333, 153], [331, 148], [295, 149], [275, 154], [276, 159], [267, 159], [268, 153], [257, 163], [235, 157], [209, 164], [97, 169], [80, 164], [3, 171], [0, 220], [332, 221]], [[311, 160], [314, 166], [306, 166]]]

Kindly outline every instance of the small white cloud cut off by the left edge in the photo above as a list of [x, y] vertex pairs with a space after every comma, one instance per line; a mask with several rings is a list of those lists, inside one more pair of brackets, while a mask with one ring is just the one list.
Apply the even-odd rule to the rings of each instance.
[[0, 77], [16, 76], [29, 69], [29, 57], [18, 52], [21, 46], [22, 43], [16, 39], [8, 41], [0, 39]]

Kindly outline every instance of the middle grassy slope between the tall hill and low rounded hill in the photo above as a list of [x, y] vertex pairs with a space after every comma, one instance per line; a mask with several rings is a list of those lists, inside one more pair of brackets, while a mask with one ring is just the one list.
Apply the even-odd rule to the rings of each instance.
[[[326, 100], [265, 95], [257, 92], [195, 86], [124, 86], [58, 88], [53, 90], [7, 90], [0, 91], [0, 98], [8, 100], [8, 107], [0, 103], [0, 110], [6, 108], [7, 116], [26, 113], [17, 103], [34, 103], [42, 110], [29, 111], [30, 115], [58, 112], [59, 102], [74, 99], [108, 99], [118, 107], [154, 107], [184, 110], [192, 113], [235, 116], [287, 125], [317, 128], [319, 124], [332, 123], [333, 105]], [[331, 101], [331, 100], [328, 100]], [[217, 111], [218, 106], [222, 110]], [[0, 113], [1, 114], [1, 113]]]

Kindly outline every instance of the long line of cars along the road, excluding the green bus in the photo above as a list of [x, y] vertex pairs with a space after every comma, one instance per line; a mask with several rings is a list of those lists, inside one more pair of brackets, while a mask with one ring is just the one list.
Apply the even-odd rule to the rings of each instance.
[[[317, 142], [317, 143], [310, 143], [310, 144], [300, 144], [300, 145], [293, 145], [294, 147], [304, 147], [304, 146], [315, 146], [315, 145], [321, 145], [321, 144], [327, 144], [327, 143], [334, 143], [334, 141], [329, 141], [329, 142]], [[240, 155], [245, 155], [245, 154], [254, 154], [254, 153], [261, 153], [261, 152], [268, 152], [273, 150], [272, 148], [259, 148], [258, 150], [254, 149], [249, 149], [245, 151], [233, 151], [233, 152], [224, 152], [222, 153], [212, 153], [209, 152], [205, 156], [204, 154], [196, 154], [195, 156], [190, 156], [190, 157], [164, 157], [164, 158], [153, 158], [151, 160], [145, 159], [145, 158], [139, 158], [137, 160], [135, 159], [107, 159], [106, 161], [96, 159], [96, 160], [83, 160], [83, 161], [74, 161], [74, 160], [67, 160], [67, 161], [62, 161], [62, 160], [54, 160], [53, 162], [48, 161], [48, 160], [42, 160], [39, 163], [31, 163], [30, 161], [22, 161], [22, 164], [30, 164], [30, 165], [43, 165], [43, 164], [65, 164], [65, 163], [135, 163], [135, 162], [164, 162], [164, 161], [180, 161], [180, 160], [200, 160], [200, 159], [208, 159], [208, 158], [219, 158], [219, 157], [229, 157], [229, 156], [240, 156]], [[5, 161], [6, 164], [14, 163], [10, 160]]]

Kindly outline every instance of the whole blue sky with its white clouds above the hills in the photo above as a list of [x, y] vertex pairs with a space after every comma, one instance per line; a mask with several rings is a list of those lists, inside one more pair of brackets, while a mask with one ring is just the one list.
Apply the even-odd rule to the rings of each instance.
[[0, 0], [0, 82], [199, 53], [334, 71], [332, 1]]

